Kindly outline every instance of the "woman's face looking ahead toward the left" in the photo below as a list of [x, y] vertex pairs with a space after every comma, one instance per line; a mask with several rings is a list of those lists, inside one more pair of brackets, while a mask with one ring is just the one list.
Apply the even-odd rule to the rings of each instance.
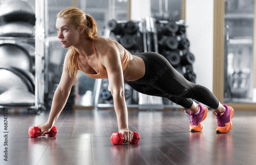
[[63, 18], [57, 18], [56, 29], [63, 48], [69, 48], [78, 43], [79, 30], [76, 30], [72, 23], [66, 22]]

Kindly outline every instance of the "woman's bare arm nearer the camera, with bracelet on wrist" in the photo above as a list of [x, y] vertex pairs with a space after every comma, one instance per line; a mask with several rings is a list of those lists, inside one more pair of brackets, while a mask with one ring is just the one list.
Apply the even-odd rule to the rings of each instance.
[[[120, 52], [118, 48], [108, 47], [104, 54], [103, 61], [108, 71], [109, 87], [113, 95], [118, 129], [128, 128], [128, 112], [124, 98], [124, 78]], [[120, 132], [124, 136], [124, 143], [132, 140], [133, 132], [126, 129], [122, 129]]]

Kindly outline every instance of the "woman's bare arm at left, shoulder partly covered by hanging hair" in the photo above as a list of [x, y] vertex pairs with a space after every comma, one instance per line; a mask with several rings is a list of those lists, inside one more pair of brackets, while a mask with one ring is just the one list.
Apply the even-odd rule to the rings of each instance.
[[[68, 51], [66, 54], [64, 65], [63, 65], [64, 69], [68, 65], [69, 55], [70, 55], [70, 51]], [[74, 83], [74, 79], [70, 78], [69, 72], [67, 70], [64, 70], [61, 75], [60, 83], [54, 92], [48, 121], [47, 123], [37, 125], [37, 127], [39, 127], [41, 131], [39, 136], [45, 136], [44, 133], [50, 131], [54, 123], [57, 121], [62, 109], [64, 108], [68, 100], [70, 89], [73, 83]]]

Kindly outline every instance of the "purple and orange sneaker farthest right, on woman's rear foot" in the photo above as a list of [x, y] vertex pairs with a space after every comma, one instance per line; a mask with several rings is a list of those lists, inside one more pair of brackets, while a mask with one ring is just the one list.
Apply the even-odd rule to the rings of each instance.
[[213, 113], [216, 115], [218, 120], [218, 128], [216, 129], [216, 133], [227, 133], [232, 129], [231, 119], [234, 114], [234, 110], [232, 107], [222, 104], [226, 110], [221, 113], [217, 113], [214, 111]]

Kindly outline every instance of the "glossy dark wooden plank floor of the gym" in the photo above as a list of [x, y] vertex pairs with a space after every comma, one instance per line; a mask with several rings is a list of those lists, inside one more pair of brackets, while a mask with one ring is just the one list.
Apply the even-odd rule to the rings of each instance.
[[[191, 133], [183, 111], [129, 111], [129, 128], [140, 133], [138, 144], [112, 145], [118, 131], [110, 110], [62, 111], [55, 137], [30, 138], [28, 129], [46, 122], [41, 115], [8, 114], [8, 146], [4, 146], [4, 116], [0, 119], [0, 164], [256, 164], [256, 113], [236, 112], [233, 128], [216, 134], [216, 116], [209, 111], [202, 132]], [[8, 161], [4, 161], [7, 147]]]

